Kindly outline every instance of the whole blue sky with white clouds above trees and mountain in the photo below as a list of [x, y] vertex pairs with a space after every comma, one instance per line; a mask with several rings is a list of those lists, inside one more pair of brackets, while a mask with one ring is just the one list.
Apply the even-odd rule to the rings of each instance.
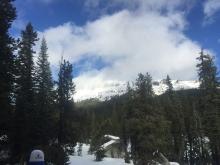
[[[197, 80], [201, 48], [220, 54], [220, 0], [16, 0], [11, 34], [28, 22], [44, 36], [54, 78], [61, 56], [73, 64], [76, 99], [106, 84], [153, 79]], [[36, 51], [39, 50], [40, 40]]]

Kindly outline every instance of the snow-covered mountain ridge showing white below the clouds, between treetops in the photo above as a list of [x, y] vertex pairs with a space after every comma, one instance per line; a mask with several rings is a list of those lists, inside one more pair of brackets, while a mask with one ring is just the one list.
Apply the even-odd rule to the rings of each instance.
[[[199, 81], [190, 80], [190, 81], [183, 81], [183, 80], [172, 80], [174, 90], [181, 90], [181, 89], [193, 89], [199, 87]], [[103, 83], [101, 86], [100, 84], [97, 86], [93, 86], [91, 90], [79, 90], [77, 91], [74, 99], [76, 101], [81, 101], [90, 98], [97, 98], [99, 100], [106, 100], [111, 98], [115, 95], [122, 95], [126, 92], [127, 84], [126, 82], [122, 81], [109, 81]], [[156, 95], [163, 94], [167, 89], [167, 85], [165, 84], [165, 80], [156, 80], [153, 81], [153, 90]]]

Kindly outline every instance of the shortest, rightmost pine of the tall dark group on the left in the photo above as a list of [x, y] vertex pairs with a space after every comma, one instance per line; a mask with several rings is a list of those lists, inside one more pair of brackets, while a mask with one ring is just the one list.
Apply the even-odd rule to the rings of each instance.
[[73, 100], [75, 85], [73, 83], [72, 70], [72, 64], [62, 59], [58, 73], [56, 101], [58, 110], [57, 139], [58, 146], [62, 148], [64, 153], [65, 159], [63, 160], [65, 162], [63, 164], [68, 164], [68, 159], [66, 158], [74, 152], [73, 147], [77, 142], [77, 131], [79, 128], [78, 123], [75, 121]]

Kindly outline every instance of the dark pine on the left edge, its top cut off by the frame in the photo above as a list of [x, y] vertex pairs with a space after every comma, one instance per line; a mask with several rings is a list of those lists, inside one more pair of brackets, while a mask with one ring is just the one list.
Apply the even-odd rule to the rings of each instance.
[[[10, 138], [10, 123], [12, 113], [12, 85], [13, 85], [13, 39], [9, 35], [9, 28], [16, 18], [16, 11], [12, 0], [0, 1], [0, 137]], [[0, 152], [8, 149], [8, 144], [0, 142]], [[0, 160], [1, 163], [1, 160]], [[6, 162], [3, 162], [3, 164]]]

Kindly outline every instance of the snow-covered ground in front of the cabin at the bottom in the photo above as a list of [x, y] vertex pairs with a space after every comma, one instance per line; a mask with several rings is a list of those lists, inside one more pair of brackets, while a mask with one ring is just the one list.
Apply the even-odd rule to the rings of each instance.
[[94, 155], [88, 154], [89, 145], [83, 144], [82, 156], [70, 156], [70, 165], [132, 165], [126, 164], [124, 159], [104, 158], [101, 162], [96, 162]]

